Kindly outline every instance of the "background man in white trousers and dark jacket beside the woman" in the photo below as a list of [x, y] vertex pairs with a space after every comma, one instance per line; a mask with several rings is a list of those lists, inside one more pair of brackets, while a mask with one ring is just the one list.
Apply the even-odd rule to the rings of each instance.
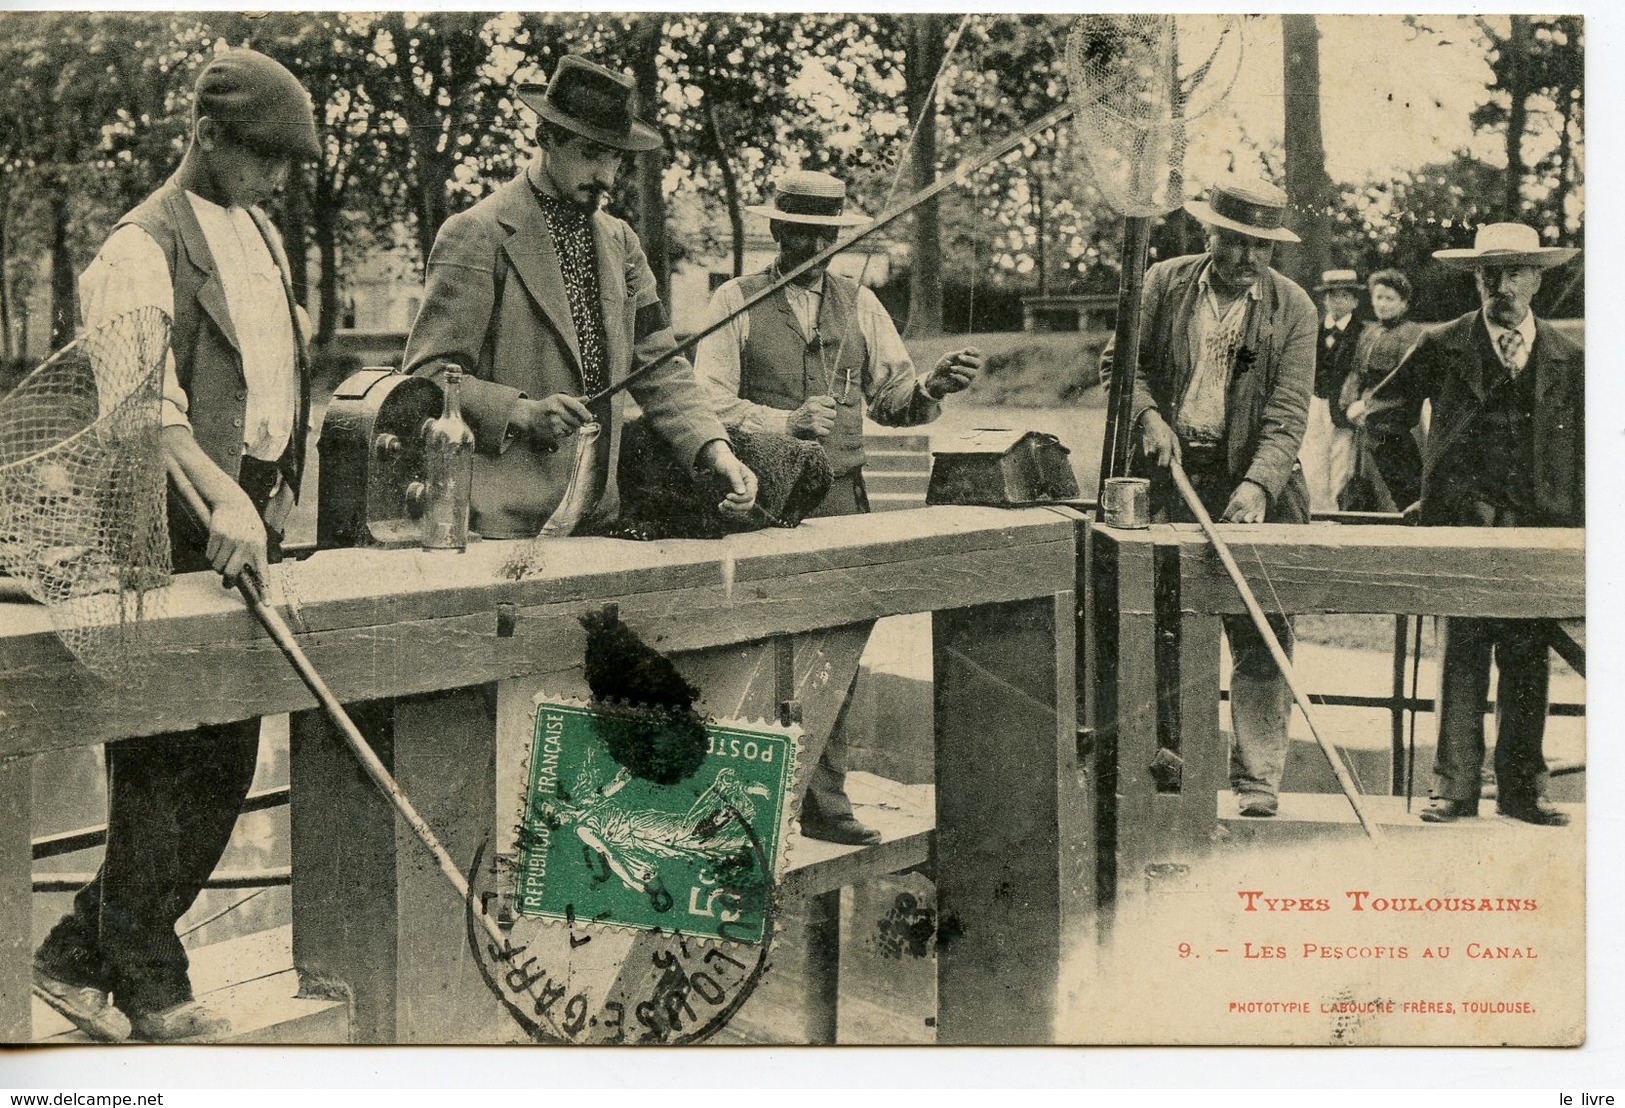
[[1360, 276], [1354, 270], [1326, 270], [1315, 291], [1320, 292], [1324, 315], [1320, 341], [1315, 344], [1315, 395], [1310, 398], [1310, 421], [1298, 460], [1310, 487], [1310, 509], [1334, 512], [1337, 494], [1354, 471], [1354, 429], [1336, 400], [1354, 367], [1354, 348], [1360, 335], [1360, 322], [1355, 318]]

